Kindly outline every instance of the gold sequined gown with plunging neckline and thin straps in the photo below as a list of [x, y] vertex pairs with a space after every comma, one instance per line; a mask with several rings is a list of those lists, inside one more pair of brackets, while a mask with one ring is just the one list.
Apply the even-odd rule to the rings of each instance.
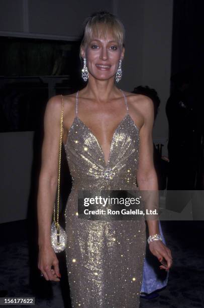
[[77, 190], [136, 189], [139, 131], [125, 95], [124, 99], [127, 114], [114, 132], [106, 164], [96, 137], [78, 117], [76, 95], [76, 115], [65, 144], [72, 176], [65, 210], [66, 263], [74, 308], [139, 307], [145, 220], [97, 221], [77, 216]]

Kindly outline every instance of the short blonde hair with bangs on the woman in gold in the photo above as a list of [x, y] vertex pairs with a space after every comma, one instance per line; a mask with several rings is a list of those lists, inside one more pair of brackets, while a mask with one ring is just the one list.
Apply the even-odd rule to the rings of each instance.
[[111, 32], [121, 47], [124, 47], [125, 29], [122, 22], [115, 15], [104, 11], [97, 12], [88, 17], [84, 24], [80, 55], [82, 47], [86, 45], [95, 33], [97, 36], [104, 36], [106, 38]]

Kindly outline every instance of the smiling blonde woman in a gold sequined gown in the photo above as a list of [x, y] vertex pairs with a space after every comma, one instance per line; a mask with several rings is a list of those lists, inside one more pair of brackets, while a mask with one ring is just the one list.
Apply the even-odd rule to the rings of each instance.
[[[122, 92], [124, 28], [112, 14], [99, 12], [86, 21], [80, 55], [85, 88], [64, 97], [64, 145], [72, 176], [65, 217], [66, 261], [73, 307], [138, 307], [146, 248], [145, 220], [91, 221], [77, 216], [78, 190], [157, 190], [152, 153], [152, 101]], [[61, 97], [46, 107], [42, 169], [39, 179], [39, 261], [46, 280], [59, 281], [50, 225], [57, 186]], [[136, 125], [137, 123], [137, 125]], [[139, 146], [140, 139], [140, 146]], [[159, 233], [148, 222], [149, 235]], [[156, 236], [157, 237], [157, 236]], [[157, 237], [158, 238], [158, 237]], [[172, 258], [162, 241], [151, 252], [167, 265]], [[54, 269], [51, 269], [51, 267]]]

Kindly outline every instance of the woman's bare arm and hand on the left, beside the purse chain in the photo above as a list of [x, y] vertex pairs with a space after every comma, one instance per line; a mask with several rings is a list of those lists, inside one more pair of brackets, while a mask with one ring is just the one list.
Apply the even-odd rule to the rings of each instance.
[[[58, 181], [61, 96], [52, 97], [44, 115], [42, 164], [37, 196], [38, 268], [46, 280], [59, 281], [57, 256], [51, 246], [50, 231]], [[54, 267], [52, 269], [51, 267]]]

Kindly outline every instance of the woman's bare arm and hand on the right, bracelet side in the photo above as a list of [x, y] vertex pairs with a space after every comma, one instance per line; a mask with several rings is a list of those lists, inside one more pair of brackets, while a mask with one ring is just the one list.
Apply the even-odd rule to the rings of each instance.
[[[151, 99], [143, 96], [140, 103], [140, 110], [144, 117], [144, 124], [140, 129], [140, 148], [139, 148], [139, 165], [137, 171], [137, 183], [139, 190], [158, 191], [157, 175], [153, 162], [153, 141], [152, 129], [154, 124], [154, 106]], [[152, 193], [152, 196], [155, 195]], [[151, 193], [150, 193], [151, 201]], [[152, 200], [155, 202], [155, 200]], [[158, 205], [158, 204], [157, 204]], [[147, 220], [149, 235], [159, 234], [158, 220]], [[153, 241], [149, 244], [151, 253], [161, 262], [164, 258], [167, 265], [161, 265], [160, 268], [168, 270], [172, 265], [171, 251], [163, 244], [162, 241]]]

